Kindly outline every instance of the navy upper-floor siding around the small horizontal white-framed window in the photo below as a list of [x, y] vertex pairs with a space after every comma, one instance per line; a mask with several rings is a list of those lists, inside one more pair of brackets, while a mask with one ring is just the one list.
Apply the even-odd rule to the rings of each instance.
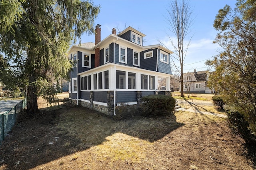
[[153, 49], [153, 57], [144, 59], [144, 53], [149, 51], [152, 51], [152, 49], [140, 52], [140, 68], [156, 71], [157, 49]]

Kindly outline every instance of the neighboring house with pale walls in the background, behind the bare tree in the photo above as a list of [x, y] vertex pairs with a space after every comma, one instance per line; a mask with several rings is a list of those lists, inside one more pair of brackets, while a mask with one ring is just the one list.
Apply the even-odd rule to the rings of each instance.
[[[183, 91], [187, 90], [190, 93], [212, 93], [212, 90], [207, 86], [207, 81], [210, 76], [208, 71], [187, 72], [183, 74]], [[180, 83], [181, 86], [181, 83]], [[181, 89], [181, 88], [180, 88]]]

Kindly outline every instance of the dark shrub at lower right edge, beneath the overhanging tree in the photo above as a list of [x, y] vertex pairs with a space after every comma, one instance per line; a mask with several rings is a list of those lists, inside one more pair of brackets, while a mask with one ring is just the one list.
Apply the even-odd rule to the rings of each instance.
[[249, 129], [249, 123], [244, 119], [244, 115], [238, 111], [226, 110], [230, 128], [238, 133], [248, 144], [256, 145], [256, 136]]

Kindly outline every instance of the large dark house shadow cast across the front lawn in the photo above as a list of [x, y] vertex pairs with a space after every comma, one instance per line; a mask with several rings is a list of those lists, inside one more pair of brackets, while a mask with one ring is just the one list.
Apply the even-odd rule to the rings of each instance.
[[123, 133], [153, 143], [184, 125], [176, 122], [174, 114], [135, 116], [117, 121], [82, 106], [67, 103], [61, 107], [50, 111], [43, 109], [39, 115], [26, 118], [14, 127], [0, 148], [0, 157], [4, 160], [0, 169], [34, 168], [100, 145], [114, 134]]

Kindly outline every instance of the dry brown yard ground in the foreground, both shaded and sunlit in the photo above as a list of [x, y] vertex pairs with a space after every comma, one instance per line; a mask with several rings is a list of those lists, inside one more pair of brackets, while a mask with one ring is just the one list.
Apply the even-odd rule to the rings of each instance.
[[38, 104], [41, 113], [23, 115], [0, 147], [0, 170], [255, 168], [220, 117], [179, 111], [115, 120], [69, 102]]

